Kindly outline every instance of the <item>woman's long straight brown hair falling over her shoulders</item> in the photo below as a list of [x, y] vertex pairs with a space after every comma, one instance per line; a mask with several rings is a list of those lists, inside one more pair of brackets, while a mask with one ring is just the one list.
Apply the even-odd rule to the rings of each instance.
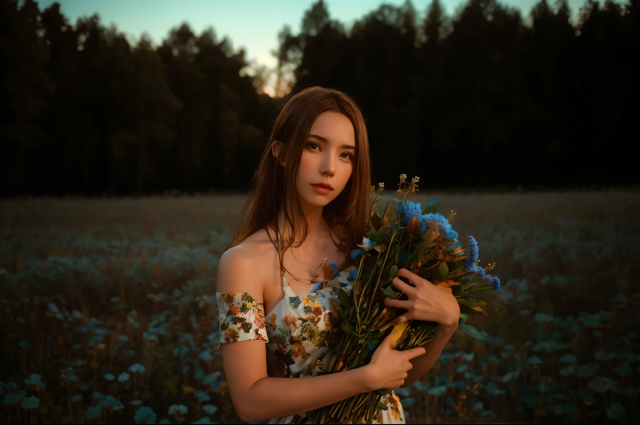
[[[362, 241], [369, 229], [369, 193], [371, 192], [371, 158], [369, 140], [362, 113], [353, 100], [337, 90], [310, 87], [294, 95], [285, 104], [273, 124], [260, 164], [253, 174], [249, 198], [244, 204], [241, 220], [232, 241], [227, 246], [236, 246], [260, 229], [267, 230], [269, 238], [278, 250], [280, 271], [284, 252], [293, 247], [296, 235], [301, 236], [298, 247], [306, 239], [308, 223], [305, 219], [298, 193], [298, 172], [300, 157], [307, 142], [311, 126], [317, 116], [332, 111], [345, 115], [353, 124], [356, 153], [353, 159], [351, 177], [332, 202], [323, 208], [323, 218], [330, 229], [339, 225], [342, 235], [334, 243], [340, 252], [349, 252]], [[278, 157], [271, 154], [275, 141], [283, 146]], [[285, 161], [285, 166], [280, 161]], [[291, 229], [291, 236], [284, 236], [284, 229], [278, 227], [278, 212], [284, 211], [285, 226]], [[275, 239], [269, 233], [275, 232]], [[339, 267], [343, 268], [349, 256]]]

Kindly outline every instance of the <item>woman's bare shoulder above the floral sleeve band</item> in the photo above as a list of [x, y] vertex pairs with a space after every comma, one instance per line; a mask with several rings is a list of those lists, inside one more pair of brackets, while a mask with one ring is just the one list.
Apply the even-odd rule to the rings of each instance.
[[278, 264], [278, 253], [266, 230], [259, 230], [222, 254], [216, 291], [248, 292], [261, 299], [264, 285], [274, 273], [280, 273]]

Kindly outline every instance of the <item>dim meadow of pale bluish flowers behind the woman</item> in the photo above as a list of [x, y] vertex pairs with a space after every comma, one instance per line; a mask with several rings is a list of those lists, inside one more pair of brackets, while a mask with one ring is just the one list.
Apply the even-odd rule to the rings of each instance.
[[[632, 422], [640, 195], [440, 199], [502, 289], [422, 381], [408, 422]], [[216, 266], [243, 195], [0, 203], [0, 421], [238, 422]], [[448, 215], [442, 211], [445, 216]]]

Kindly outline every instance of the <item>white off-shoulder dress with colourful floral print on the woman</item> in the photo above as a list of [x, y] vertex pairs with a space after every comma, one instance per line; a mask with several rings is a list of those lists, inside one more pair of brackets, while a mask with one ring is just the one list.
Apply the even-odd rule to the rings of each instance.
[[[329, 332], [337, 325], [337, 291], [351, 291], [349, 272], [336, 271], [330, 281], [317, 282], [304, 298], [293, 293], [283, 276], [284, 298], [267, 314], [264, 306], [248, 293], [216, 293], [220, 312], [221, 342], [263, 339], [267, 349], [267, 373], [272, 378], [316, 376], [331, 364], [333, 348]], [[381, 400], [375, 424], [404, 424], [404, 412], [394, 392]], [[305, 424], [304, 412], [271, 419], [269, 424]]]

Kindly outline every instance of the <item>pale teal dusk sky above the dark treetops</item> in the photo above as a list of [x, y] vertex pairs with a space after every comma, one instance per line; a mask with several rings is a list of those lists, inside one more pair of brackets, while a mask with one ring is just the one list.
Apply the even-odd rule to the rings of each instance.
[[[450, 15], [463, 3], [461, 0], [440, 0]], [[548, 0], [550, 4], [554, 0]], [[575, 13], [584, 0], [568, 0]], [[387, 0], [385, 3], [402, 4], [404, 0]], [[538, 0], [504, 0], [519, 8], [523, 16], [529, 15], [531, 6]], [[38, 2], [41, 8], [54, 0]], [[186, 21], [196, 33], [212, 26], [216, 35], [228, 36], [234, 48], [244, 47], [245, 58], [273, 67], [275, 58], [271, 51], [278, 45], [277, 34], [287, 24], [294, 33], [300, 29], [300, 20], [312, 0], [58, 0], [62, 12], [74, 24], [78, 17], [98, 13], [101, 22], [111, 23], [133, 38], [147, 32], [155, 44], [161, 44], [168, 31]], [[325, 0], [333, 19], [347, 26], [367, 12], [377, 8], [381, 1]], [[431, 0], [413, 0], [414, 8], [424, 16]]]

